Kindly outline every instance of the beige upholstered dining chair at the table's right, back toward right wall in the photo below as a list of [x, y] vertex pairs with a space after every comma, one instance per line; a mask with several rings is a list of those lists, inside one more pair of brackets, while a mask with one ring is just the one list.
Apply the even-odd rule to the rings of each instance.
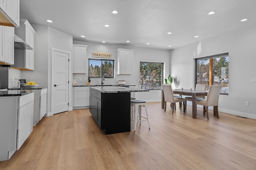
[[222, 88], [221, 85], [210, 86], [206, 99], [203, 99], [203, 98], [196, 99], [196, 104], [206, 106], [206, 110], [204, 109], [203, 112], [204, 112], [204, 114], [206, 112], [207, 119], [209, 119], [209, 114], [208, 114], [208, 107], [209, 106], [214, 107], [215, 114], [219, 118], [218, 104], [219, 104], [219, 97], [220, 97], [221, 88]]

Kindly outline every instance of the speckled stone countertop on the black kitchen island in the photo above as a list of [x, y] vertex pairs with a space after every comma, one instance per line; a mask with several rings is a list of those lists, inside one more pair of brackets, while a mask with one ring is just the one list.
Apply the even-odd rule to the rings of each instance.
[[125, 93], [125, 92], [149, 92], [149, 90], [141, 90], [135, 87], [120, 86], [90, 86], [90, 88], [102, 93]]

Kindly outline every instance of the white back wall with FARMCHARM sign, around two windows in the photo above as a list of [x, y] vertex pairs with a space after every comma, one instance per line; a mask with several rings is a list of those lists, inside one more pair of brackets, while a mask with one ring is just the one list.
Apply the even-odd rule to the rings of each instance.
[[[122, 46], [122, 45], [110, 45], [102, 43], [90, 43], [83, 41], [73, 41], [74, 44], [88, 45], [87, 47], [87, 57], [93, 58], [93, 52], [102, 52], [102, 53], [111, 53], [112, 58], [117, 60], [117, 49], [134, 49], [134, 65], [133, 65], [133, 74], [132, 75], [117, 75], [117, 66], [115, 66], [115, 78], [105, 78], [105, 84], [118, 84], [116, 81], [117, 78], [125, 80], [125, 84], [136, 85], [139, 88], [140, 80], [140, 61], [154, 61], [154, 62], [166, 62], [166, 74], [169, 74], [170, 70], [170, 51], [169, 50], [158, 50], [158, 49], [147, 49], [147, 48], [138, 48], [131, 46]], [[94, 57], [95, 58], [95, 57]], [[88, 64], [87, 64], [88, 65]], [[88, 70], [88, 68], [87, 68]], [[88, 72], [86, 74], [74, 74], [74, 78], [79, 80], [79, 78], [88, 79]], [[91, 84], [101, 84], [101, 78], [92, 78]], [[146, 100], [147, 102], [161, 101], [161, 90], [151, 90], [150, 92], [136, 92], [137, 100]]]

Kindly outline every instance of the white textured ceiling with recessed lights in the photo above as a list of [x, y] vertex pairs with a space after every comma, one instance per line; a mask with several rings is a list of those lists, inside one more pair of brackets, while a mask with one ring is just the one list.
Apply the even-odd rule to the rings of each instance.
[[174, 49], [255, 24], [255, 8], [256, 0], [20, 0], [20, 18], [76, 41]]

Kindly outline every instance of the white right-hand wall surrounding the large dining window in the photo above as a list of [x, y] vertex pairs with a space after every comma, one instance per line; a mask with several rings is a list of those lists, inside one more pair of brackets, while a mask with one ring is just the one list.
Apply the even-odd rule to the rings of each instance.
[[[194, 60], [229, 53], [229, 95], [220, 95], [219, 111], [256, 119], [256, 25], [170, 51], [174, 88], [194, 88]], [[249, 106], [245, 106], [249, 102]], [[220, 115], [221, 116], [221, 115]]]

